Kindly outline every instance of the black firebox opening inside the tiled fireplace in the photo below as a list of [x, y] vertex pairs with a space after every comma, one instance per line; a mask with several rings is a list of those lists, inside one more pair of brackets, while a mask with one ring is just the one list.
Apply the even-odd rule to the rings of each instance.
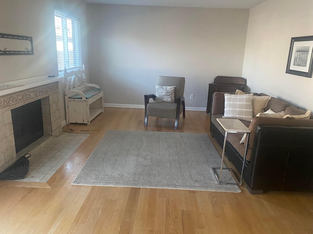
[[44, 136], [41, 100], [11, 110], [16, 153]]

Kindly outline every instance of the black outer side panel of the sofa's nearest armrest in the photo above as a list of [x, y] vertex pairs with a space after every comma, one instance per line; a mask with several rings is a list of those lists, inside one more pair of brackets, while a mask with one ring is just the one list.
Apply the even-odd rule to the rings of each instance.
[[250, 190], [313, 190], [313, 127], [258, 125], [246, 182]]

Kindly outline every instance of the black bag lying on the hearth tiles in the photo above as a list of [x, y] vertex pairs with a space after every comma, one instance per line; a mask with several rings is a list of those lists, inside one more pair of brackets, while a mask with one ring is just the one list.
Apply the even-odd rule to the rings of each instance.
[[25, 178], [28, 168], [30, 154], [20, 157], [12, 166], [0, 173], [0, 179], [23, 179]]

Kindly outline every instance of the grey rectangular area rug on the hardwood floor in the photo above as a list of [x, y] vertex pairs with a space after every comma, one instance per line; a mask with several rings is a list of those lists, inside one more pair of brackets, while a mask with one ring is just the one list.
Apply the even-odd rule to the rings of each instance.
[[[107, 131], [73, 185], [240, 193], [218, 184], [221, 156], [207, 134]], [[228, 170], [224, 182], [234, 182]]]

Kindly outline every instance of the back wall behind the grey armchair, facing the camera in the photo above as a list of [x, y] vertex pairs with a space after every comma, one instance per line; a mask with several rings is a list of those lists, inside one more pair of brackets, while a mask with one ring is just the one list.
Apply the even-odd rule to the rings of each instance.
[[216, 76], [242, 75], [247, 9], [87, 4], [87, 13], [90, 81], [105, 103], [143, 105], [165, 75], [185, 77], [186, 106], [203, 108]]

